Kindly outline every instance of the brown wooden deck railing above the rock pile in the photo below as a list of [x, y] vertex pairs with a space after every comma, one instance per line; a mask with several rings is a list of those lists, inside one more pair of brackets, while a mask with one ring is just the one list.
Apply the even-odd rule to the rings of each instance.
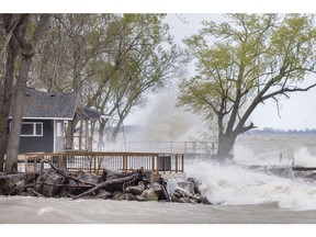
[[95, 174], [101, 174], [103, 168], [128, 172], [140, 167], [153, 170], [155, 174], [184, 172], [183, 154], [91, 151], [25, 154], [25, 172], [40, 172], [44, 168], [49, 168], [49, 163], [69, 171], [82, 170]]

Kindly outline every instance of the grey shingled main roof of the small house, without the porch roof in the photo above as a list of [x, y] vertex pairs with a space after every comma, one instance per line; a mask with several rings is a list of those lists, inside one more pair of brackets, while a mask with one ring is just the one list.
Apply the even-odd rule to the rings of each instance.
[[74, 92], [47, 93], [26, 88], [23, 119], [72, 120], [78, 94]]

